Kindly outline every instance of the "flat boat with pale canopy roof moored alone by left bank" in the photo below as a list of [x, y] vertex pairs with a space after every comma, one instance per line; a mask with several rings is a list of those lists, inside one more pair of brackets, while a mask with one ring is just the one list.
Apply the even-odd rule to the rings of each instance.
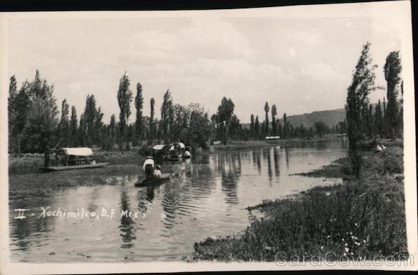
[[[54, 153], [54, 166], [49, 166], [49, 157], [51, 153]], [[45, 159], [47, 159], [46, 163], [48, 163], [48, 165], [40, 167], [40, 169], [44, 172], [99, 168], [109, 164], [96, 163], [93, 151], [87, 147], [54, 149], [45, 153]]]

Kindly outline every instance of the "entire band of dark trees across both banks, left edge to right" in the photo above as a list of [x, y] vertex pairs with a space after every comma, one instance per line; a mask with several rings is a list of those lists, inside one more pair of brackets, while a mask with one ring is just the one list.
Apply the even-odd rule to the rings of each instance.
[[[194, 146], [205, 147], [208, 140], [222, 140], [225, 144], [233, 140], [264, 139], [268, 135], [281, 138], [313, 138], [327, 133], [347, 133], [350, 143], [348, 155], [353, 165], [358, 163], [357, 144], [364, 138], [396, 138], [403, 134], [403, 82], [401, 80], [401, 58], [398, 51], [389, 53], [384, 67], [387, 81], [387, 101], [378, 102], [373, 108], [369, 104], [369, 93], [381, 89], [374, 85], [376, 65], [369, 55], [370, 44], [364, 45], [362, 54], [353, 73], [353, 81], [347, 94], [347, 119], [335, 126], [316, 122], [314, 126], [292, 125], [284, 113], [277, 117], [277, 107], [265, 103], [265, 118], [251, 115], [249, 128], [242, 127], [234, 114], [235, 104], [224, 97], [217, 113], [209, 117], [198, 103], [181, 106], [173, 101], [167, 90], [160, 108], [160, 119], [155, 117], [155, 100], [150, 99], [150, 114], [144, 115], [144, 94], [141, 83], [136, 85], [136, 95], [130, 90], [130, 79], [126, 72], [119, 81], [116, 98], [120, 109], [118, 119], [111, 115], [108, 124], [103, 122], [103, 113], [93, 94], [86, 97], [84, 111], [77, 117], [75, 106], [64, 99], [61, 115], [54, 98], [54, 85], [40, 77], [38, 70], [32, 81], [24, 81], [17, 87], [15, 76], [10, 78], [8, 99], [8, 135], [10, 152], [41, 152], [47, 147], [88, 146], [126, 149], [130, 143], [137, 145], [148, 142], [172, 142], [182, 140]], [[134, 122], [129, 119], [134, 101]], [[270, 113], [271, 112], [271, 113]], [[269, 116], [270, 113], [270, 116]], [[270, 122], [271, 119], [271, 122]], [[356, 168], [357, 169], [357, 168]]]

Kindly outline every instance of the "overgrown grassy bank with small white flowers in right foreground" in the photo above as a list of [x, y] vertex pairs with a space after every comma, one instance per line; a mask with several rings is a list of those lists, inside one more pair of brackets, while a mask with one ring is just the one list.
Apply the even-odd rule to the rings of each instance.
[[[244, 233], [196, 243], [186, 260], [405, 256], [399, 253], [407, 250], [403, 149], [395, 145], [380, 153], [364, 151], [363, 155], [361, 179], [353, 178], [345, 158], [304, 174], [345, 179], [341, 185], [316, 187], [247, 208], [250, 224]], [[257, 218], [254, 210], [263, 217]]]

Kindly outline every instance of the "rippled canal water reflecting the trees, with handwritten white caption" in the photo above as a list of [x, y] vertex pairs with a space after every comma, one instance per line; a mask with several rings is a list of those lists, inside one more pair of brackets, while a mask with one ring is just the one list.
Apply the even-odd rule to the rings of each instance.
[[[343, 156], [342, 140], [221, 151], [162, 164], [173, 176], [155, 187], [134, 187], [137, 176], [107, 176], [104, 185], [10, 194], [10, 257], [38, 263], [181, 260], [195, 242], [244, 231], [247, 206], [339, 183], [290, 174]], [[22, 203], [29, 208], [26, 218], [15, 219]]]

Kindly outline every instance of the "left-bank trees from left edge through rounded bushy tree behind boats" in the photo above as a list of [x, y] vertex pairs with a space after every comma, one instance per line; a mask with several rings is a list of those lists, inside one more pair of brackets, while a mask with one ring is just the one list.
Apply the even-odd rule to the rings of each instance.
[[84, 112], [77, 117], [75, 106], [64, 99], [61, 115], [54, 98], [54, 85], [49, 85], [36, 71], [33, 81], [25, 81], [17, 88], [15, 76], [10, 78], [8, 98], [8, 135], [10, 152], [42, 152], [48, 147], [79, 147], [93, 145], [111, 149], [127, 149], [144, 140], [150, 143], [182, 140], [194, 146], [205, 147], [212, 138], [214, 126], [208, 113], [198, 104], [181, 106], [173, 103], [169, 90], [164, 94], [161, 119], [155, 119], [155, 99], [150, 99], [150, 115], [144, 116], [142, 86], [137, 83], [134, 97], [136, 117], [129, 123], [133, 93], [125, 73], [117, 92], [119, 119], [111, 115], [109, 124], [103, 122], [103, 113], [95, 96], [88, 94]]

